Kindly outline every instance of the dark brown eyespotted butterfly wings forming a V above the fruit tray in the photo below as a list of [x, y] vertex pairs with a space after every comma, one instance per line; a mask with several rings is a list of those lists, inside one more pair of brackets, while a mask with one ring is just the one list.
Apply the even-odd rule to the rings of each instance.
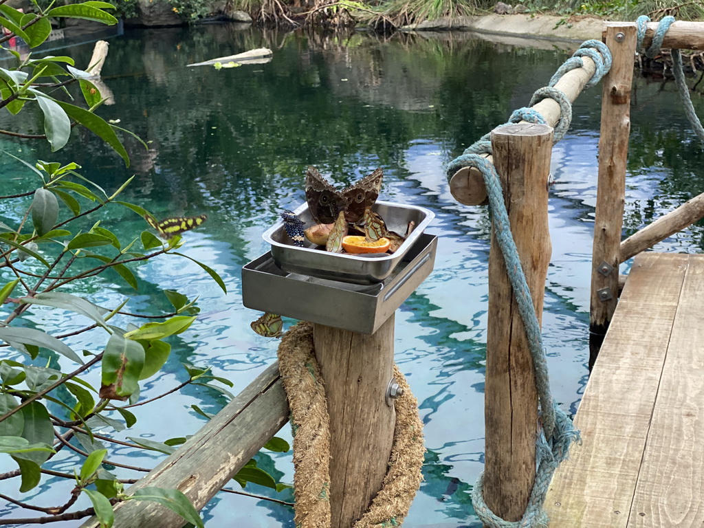
[[332, 224], [339, 213], [345, 213], [349, 223], [361, 220], [367, 207], [374, 205], [382, 190], [384, 173], [379, 168], [343, 191], [338, 191], [315, 167], [306, 173], [306, 201], [313, 220], [318, 224]]

